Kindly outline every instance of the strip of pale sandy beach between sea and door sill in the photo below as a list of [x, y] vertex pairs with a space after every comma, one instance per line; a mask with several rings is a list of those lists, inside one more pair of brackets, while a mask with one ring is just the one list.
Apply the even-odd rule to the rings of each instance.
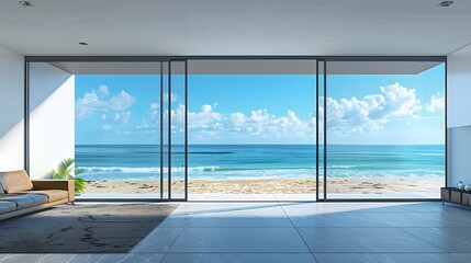
[[[319, 191], [323, 191], [321, 181]], [[441, 178], [334, 178], [328, 192], [339, 194], [438, 193]], [[167, 182], [165, 182], [167, 186]], [[172, 192], [183, 192], [183, 181], [172, 182]], [[190, 180], [191, 194], [310, 194], [315, 193], [312, 179]], [[85, 194], [156, 194], [158, 181], [88, 181]]]

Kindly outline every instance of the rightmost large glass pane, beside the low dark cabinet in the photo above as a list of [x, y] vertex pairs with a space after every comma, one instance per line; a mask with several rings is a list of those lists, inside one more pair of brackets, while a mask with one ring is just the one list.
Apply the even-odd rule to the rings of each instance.
[[328, 198], [439, 197], [445, 64], [328, 62]]

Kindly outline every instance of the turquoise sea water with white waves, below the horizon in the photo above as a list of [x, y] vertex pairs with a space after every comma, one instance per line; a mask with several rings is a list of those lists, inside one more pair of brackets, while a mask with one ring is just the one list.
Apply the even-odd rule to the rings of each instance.
[[[190, 145], [188, 171], [190, 179], [315, 178], [315, 150], [314, 145]], [[329, 178], [445, 176], [444, 145], [330, 145], [327, 152]], [[158, 180], [159, 158], [156, 145], [76, 146], [86, 180]], [[182, 176], [182, 146], [172, 147], [171, 162], [173, 176]]]

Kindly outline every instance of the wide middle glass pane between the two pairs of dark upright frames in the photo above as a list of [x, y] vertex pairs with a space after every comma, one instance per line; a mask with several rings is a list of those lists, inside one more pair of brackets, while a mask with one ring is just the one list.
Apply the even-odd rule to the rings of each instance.
[[315, 199], [315, 60], [189, 61], [191, 199]]

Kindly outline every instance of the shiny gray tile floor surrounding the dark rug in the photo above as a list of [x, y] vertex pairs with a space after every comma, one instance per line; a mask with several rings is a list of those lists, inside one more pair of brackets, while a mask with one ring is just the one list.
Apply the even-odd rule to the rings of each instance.
[[128, 254], [0, 262], [471, 262], [471, 210], [441, 203], [182, 203]]

